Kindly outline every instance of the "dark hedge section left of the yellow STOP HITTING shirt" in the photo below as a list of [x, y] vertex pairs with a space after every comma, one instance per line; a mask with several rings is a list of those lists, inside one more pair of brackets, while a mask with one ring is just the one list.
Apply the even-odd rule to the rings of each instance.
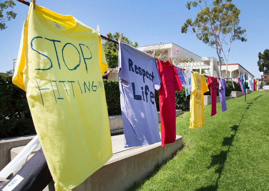
[[12, 83], [12, 76], [0, 75], [0, 138], [35, 133], [25, 91]]

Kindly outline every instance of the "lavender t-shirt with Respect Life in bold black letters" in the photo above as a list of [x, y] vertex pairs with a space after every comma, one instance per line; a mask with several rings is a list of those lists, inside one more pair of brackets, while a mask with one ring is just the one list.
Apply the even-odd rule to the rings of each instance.
[[124, 147], [160, 142], [154, 96], [161, 80], [155, 58], [120, 42], [118, 76]]

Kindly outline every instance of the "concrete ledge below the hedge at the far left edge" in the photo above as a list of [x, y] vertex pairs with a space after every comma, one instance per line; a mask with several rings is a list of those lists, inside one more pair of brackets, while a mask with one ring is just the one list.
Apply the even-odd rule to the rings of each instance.
[[14, 147], [27, 145], [35, 135], [25, 135], [20, 137], [0, 139], [0, 170], [2, 170], [10, 160], [10, 150]]

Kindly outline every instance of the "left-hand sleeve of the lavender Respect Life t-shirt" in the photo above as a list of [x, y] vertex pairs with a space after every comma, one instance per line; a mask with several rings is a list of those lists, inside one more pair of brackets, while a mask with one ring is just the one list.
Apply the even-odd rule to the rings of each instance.
[[118, 76], [128, 82], [131, 82], [131, 76], [129, 73], [129, 63], [125, 57], [124, 50], [123, 50], [122, 42], [119, 43], [119, 51], [118, 51], [118, 58], [119, 58], [119, 67], [118, 67]]

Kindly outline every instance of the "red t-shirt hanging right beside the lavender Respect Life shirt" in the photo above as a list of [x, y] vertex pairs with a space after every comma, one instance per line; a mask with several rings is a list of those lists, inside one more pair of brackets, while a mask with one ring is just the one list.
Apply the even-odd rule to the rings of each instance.
[[175, 66], [169, 61], [162, 62], [158, 59], [158, 70], [161, 78], [159, 90], [161, 140], [164, 144], [175, 142], [175, 90], [182, 89]]

